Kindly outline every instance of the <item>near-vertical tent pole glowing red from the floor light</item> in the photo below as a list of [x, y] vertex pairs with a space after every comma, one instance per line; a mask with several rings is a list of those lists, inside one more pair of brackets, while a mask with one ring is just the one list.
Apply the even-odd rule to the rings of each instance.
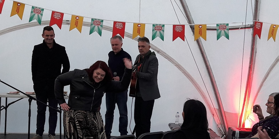
[[[254, 4], [254, 20], [255, 21], [259, 20], [259, 8], [260, 8], [260, 0], [255, 0], [255, 4]], [[240, 115], [240, 120], [238, 123], [238, 126], [242, 127], [242, 128], [245, 127], [245, 120], [247, 117], [247, 109], [248, 109], [248, 104], [249, 104], [252, 80], [253, 80], [253, 75], [254, 75], [254, 70], [255, 70], [256, 53], [257, 53], [257, 48], [256, 48], [257, 37], [253, 36], [253, 34], [254, 34], [254, 29], [252, 31], [249, 68], [248, 68], [248, 74], [247, 74], [243, 106], [242, 106], [242, 111], [241, 111], [241, 115]]]

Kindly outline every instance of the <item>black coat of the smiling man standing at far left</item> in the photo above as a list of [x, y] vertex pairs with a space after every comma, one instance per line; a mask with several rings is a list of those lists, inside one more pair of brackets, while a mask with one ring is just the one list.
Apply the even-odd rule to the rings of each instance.
[[61, 74], [70, 70], [70, 62], [64, 46], [53, 41], [53, 47], [48, 48], [43, 40], [42, 44], [34, 46], [32, 54], [32, 80], [34, 86], [42, 85], [46, 82], [54, 84], [55, 79]]

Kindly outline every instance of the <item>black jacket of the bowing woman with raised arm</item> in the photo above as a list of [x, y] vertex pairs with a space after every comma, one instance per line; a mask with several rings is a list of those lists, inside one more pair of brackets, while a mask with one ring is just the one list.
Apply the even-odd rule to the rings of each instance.
[[125, 69], [121, 82], [109, 80], [93, 85], [86, 70], [75, 69], [56, 78], [55, 97], [59, 104], [65, 103], [63, 88], [70, 85], [68, 105], [72, 110], [99, 112], [104, 93], [126, 90], [131, 82], [131, 74], [131, 69]]

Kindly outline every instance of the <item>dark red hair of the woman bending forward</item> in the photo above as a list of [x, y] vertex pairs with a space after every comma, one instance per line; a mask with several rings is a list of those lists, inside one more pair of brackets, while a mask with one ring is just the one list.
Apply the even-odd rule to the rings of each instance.
[[95, 82], [93, 80], [92, 76], [93, 76], [94, 70], [96, 70], [98, 68], [104, 70], [104, 72], [106, 73], [106, 75], [104, 76], [104, 79], [103, 79], [104, 82], [108, 82], [109, 80], [112, 79], [112, 75], [110, 73], [110, 70], [109, 70], [108, 65], [106, 64], [106, 62], [104, 62], [104, 61], [97, 61], [93, 65], [91, 65], [89, 69], [85, 69], [87, 71], [87, 73], [88, 73], [88, 76], [89, 76], [91, 82]]

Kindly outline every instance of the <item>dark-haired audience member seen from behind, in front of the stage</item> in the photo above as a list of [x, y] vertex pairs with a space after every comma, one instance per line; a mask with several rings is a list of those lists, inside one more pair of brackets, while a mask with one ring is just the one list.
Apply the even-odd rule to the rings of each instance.
[[184, 103], [183, 124], [172, 139], [210, 139], [207, 132], [208, 121], [206, 107], [198, 100], [190, 99]]

